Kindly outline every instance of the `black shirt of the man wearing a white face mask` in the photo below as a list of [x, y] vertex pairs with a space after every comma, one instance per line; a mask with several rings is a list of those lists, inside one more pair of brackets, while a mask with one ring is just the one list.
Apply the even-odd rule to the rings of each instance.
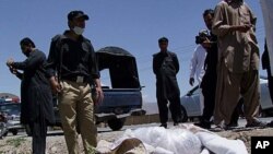
[[61, 79], [74, 79], [78, 75], [98, 79], [99, 72], [91, 42], [83, 36], [73, 40], [66, 36], [67, 33], [68, 31], [52, 38], [47, 60], [50, 75], [55, 75], [58, 70]]

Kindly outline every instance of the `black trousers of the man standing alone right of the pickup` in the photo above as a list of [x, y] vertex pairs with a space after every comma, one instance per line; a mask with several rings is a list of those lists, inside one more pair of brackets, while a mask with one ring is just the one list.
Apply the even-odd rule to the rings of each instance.
[[168, 99], [157, 97], [161, 123], [167, 123], [168, 121], [168, 100], [171, 119], [174, 122], [181, 122], [181, 104], [179, 96]]

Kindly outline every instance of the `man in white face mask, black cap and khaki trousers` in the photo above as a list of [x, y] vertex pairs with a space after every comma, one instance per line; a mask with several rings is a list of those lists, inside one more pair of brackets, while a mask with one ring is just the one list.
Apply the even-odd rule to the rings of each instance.
[[94, 48], [91, 40], [83, 36], [88, 19], [83, 11], [71, 11], [68, 14], [69, 29], [54, 37], [48, 56], [50, 83], [54, 92], [58, 92], [69, 154], [80, 153], [79, 132], [85, 153], [93, 152], [97, 144], [91, 83], [95, 84], [98, 102], [104, 95]]

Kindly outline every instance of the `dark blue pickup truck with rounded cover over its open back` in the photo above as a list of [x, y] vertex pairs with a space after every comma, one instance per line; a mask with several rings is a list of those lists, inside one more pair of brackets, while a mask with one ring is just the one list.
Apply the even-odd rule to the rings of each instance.
[[[96, 123], [107, 122], [112, 130], [123, 127], [128, 116], [145, 115], [142, 93], [133, 55], [119, 47], [105, 47], [96, 51], [98, 69], [106, 71], [109, 85], [103, 86], [104, 100], [95, 106]], [[104, 78], [100, 81], [105, 83]], [[58, 107], [55, 108], [56, 125], [61, 126]]]

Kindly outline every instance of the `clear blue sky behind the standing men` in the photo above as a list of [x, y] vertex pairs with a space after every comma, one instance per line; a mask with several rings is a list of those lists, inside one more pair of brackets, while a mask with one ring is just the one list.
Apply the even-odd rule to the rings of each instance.
[[[84, 36], [94, 49], [121, 47], [136, 58], [144, 103], [155, 103], [153, 55], [158, 52], [157, 39], [169, 39], [168, 49], [178, 56], [177, 74], [181, 96], [189, 85], [190, 59], [195, 48], [195, 35], [204, 29], [202, 13], [214, 9], [221, 0], [0, 0], [0, 93], [20, 96], [20, 80], [9, 72], [9, 58], [23, 61], [20, 49], [23, 37], [32, 38], [36, 47], [48, 56], [51, 38], [68, 29], [67, 14], [82, 10], [88, 14]], [[264, 24], [259, 0], [245, 0], [258, 17], [257, 38], [263, 52]], [[260, 69], [261, 75], [266, 75]], [[109, 76], [102, 72], [107, 85]], [[197, 84], [197, 80], [195, 80]]]

